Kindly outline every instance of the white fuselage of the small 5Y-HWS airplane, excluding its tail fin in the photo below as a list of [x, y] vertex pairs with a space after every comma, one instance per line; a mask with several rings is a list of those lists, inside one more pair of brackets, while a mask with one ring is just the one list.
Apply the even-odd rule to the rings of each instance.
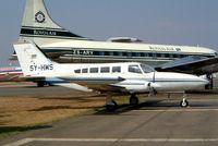
[[204, 88], [207, 84], [207, 81], [195, 75], [156, 72], [150, 66], [137, 62], [61, 64], [60, 66], [53, 64], [48, 70], [40, 66], [36, 66], [36, 75], [39, 72], [52, 71], [45, 75], [49, 83], [59, 85], [76, 83], [100, 92], [134, 94], [149, 93], [150, 90], [157, 93], [183, 92]]

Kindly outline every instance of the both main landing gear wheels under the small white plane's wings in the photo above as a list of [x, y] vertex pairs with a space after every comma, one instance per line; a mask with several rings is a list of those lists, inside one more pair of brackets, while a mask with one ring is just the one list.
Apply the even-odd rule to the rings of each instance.
[[[131, 106], [136, 106], [140, 100], [134, 94], [132, 94], [129, 101]], [[106, 109], [109, 111], [116, 111], [118, 109], [118, 104], [112, 99], [110, 94], [106, 97]]]

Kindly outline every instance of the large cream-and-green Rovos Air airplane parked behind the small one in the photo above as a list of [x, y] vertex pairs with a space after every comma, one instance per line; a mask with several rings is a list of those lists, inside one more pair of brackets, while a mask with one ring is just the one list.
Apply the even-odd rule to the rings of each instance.
[[[120, 37], [97, 41], [64, 29], [49, 16], [44, 0], [26, 0], [20, 41], [34, 41], [58, 62], [143, 62], [157, 71], [196, 75], [218, 72], [218, 54], [204, 47], [144, 44]], [[168, 63], [169, 62], [169, 63]]]

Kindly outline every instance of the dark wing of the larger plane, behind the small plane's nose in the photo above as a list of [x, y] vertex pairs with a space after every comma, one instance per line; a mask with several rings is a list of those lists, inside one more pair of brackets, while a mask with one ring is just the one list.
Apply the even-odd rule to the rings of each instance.
[[156, 68], [162, 72], [181, 72], [196, 75], [211, 74], [218, 72], [218, 58], [206, 58], [191, 56], [165, 63]]

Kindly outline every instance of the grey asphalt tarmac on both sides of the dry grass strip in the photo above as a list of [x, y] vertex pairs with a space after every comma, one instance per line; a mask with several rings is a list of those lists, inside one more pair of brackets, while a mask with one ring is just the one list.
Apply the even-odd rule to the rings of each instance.
[[[29, 92], [31, 90], [31, 92]], [[72, 94], [59, 87], [0, 87], [0, 96]], [[149, 100], [73, 117], [0, 139], [2, 146], [217, 146], [218, 96], [191, 95], [189, 108], [179, 100]]]

